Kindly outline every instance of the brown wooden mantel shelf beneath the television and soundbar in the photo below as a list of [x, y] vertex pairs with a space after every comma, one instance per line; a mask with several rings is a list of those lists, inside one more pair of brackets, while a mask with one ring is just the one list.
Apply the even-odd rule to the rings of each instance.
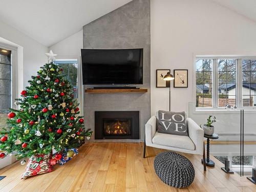
[[147, 89], [86, 89], [86, 93], [146, 93]]

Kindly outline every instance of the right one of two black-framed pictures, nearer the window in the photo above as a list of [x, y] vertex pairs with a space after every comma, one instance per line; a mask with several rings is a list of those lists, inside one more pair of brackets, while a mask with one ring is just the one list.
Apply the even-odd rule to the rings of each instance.
[[[180, 73], [181, 75], [179, 75]], [[185, 77], [184, 79], [182, 79], [183, 75]], [[174, 88], [188, 88], [188, 70], [187, 69], [174, 70]]]

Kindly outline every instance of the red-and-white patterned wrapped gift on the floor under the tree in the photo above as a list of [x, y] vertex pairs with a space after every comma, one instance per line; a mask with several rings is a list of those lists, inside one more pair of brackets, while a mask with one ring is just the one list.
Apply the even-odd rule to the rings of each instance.
[[50, 163], [51, 158], [51, 154], [35, 155], [29, 158], [29, 162], [26, 166], [26, 171], [22, 175], [22, 179], [26, 179], [27, 177], [30, 176], [52, 172], [53, 167]]

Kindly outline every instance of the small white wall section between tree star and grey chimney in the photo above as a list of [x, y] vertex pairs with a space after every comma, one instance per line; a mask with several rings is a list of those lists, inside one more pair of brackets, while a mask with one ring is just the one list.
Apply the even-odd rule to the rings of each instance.
[[58, 56], [80, 56], [82, 46], [83, 33], [82, 30], [71, 35], [70, 37], [63, 39], [57, 44], [50, 47], [53, 53]]

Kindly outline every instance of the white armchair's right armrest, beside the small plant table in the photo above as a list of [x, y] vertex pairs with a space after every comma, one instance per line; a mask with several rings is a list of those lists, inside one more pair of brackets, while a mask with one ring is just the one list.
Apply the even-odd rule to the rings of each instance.
[[187, 118], [187, 130], [190, 139], [196, 146], [196, 151], [198, 152], [198, 154], [202, 155], [204, 147], [204, 131], [191, 118]]

